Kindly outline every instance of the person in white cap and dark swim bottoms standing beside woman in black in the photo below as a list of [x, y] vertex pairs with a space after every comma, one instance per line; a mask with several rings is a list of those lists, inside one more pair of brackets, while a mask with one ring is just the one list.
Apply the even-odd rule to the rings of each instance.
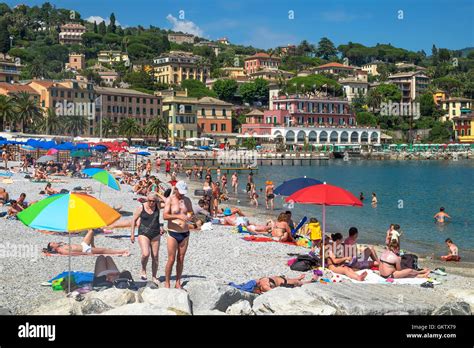
[[176, 285], [181, 289], [181, 276], [184, 268], [184, 256], [188, 249], [189, 224], [193, 218], [191, 200], [186, 197], [188, 185], [178, 181], [170, 197], [166, 200], [163, 219], [168, 221], [168, 262], [165, 269], [165, 287], [170, 287], [171, 271], [176, 262]]

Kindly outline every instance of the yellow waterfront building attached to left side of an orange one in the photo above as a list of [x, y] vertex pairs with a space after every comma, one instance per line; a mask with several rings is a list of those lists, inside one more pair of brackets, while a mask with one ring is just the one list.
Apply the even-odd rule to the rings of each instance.
[[163, 98], [163, 116], [168, 118], [171, 144], [179, 146], [187, 138], [197, 137], [197, 98], [188, 97], [187, 91], [164, 90], [156, 95]]

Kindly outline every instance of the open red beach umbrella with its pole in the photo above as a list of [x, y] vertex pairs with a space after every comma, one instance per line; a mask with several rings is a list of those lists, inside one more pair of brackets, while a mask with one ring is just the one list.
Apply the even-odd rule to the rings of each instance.
[[323, 268], [324, 268], [324, 236], [326, 233], [326, 206], [345, 206], [345, 207], [362, 207], [362, 202], [351, 192], [341, 187], [328, 185], [313, 185], [296, 191], [286, 198], [286, 202], [294, 202], [300, 204], [316, 204], [323, 206]]

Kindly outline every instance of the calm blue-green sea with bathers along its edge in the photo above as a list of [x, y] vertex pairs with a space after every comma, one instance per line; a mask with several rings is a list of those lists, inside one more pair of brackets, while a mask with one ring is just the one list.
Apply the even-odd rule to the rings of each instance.
[[[284, 180], [312, 177], [341, 186], [357, 197], [364, 193], [364, 207], [328, 207], [326, 230], [347, 235], [349, 227], [359, 229], [362, 242], [382, 244], [391, 223], [403, 231], [402, 248], [423, 254], [439, 255], [446, 251], [444, 240], [451, 238], [464, 251], [465, 259], [474, 259], [474, 161], [365, 161], [330, 160], [314, 166], [261, 166], [254, 176], [257, 189], [266, 180], [277, 186]], [[240, 190], [247, 182], [241, 174]], [[230, 182], [230, 175], [229, 175]], [[378, 206], [372, 208], [371, 193]], [[240, 196], [240, 195], [239, 195]], [[242, 203], [247, 199], [241, 195]], [[260, 205], [265, 207], [263, 194]], [[283, 198], [275, 199], [276, 209], [286, 209]], [[452, 221], [439, 226], [433, 215], [444, 206]], [[315, 216], [321, 220], [322, 208], [295, 205], [297, 218]], [[275, 214], [276, 215], [276, 214]], [[296, 219], [295, 219], [296, 220]], [[461, 256], [463, 256], [461, 254]]]

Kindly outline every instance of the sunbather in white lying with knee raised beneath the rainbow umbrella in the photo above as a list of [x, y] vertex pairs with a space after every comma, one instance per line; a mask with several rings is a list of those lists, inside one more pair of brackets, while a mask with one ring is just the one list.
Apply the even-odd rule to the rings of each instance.
[[94, 230], [87, 231], [87, 234], [82, 239], [81, 244], [67, 244], [67, 243], [56, 243], [50, 242], [45, 249], [46, 252], [51, 254], [80, 256], [80, 255], [122, 255], [129, 256], [130, 252], [126, 249], [110, 249], [110, 248], [97, 248], [94, 245]]

